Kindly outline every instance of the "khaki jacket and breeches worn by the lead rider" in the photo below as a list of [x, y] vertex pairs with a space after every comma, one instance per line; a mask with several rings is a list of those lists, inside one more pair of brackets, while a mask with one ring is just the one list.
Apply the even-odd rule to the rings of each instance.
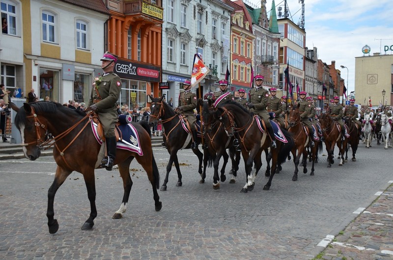
[[104, 73], [100, 79], [101, 82], [95, 82], [95, 87], [91, 89], [89, 106], [97, 105], [96, 114], [102, 123], [105, 137], [114, 137], [117, 122], [116, 102], [120, 96], [121, 80], [113, 72]]

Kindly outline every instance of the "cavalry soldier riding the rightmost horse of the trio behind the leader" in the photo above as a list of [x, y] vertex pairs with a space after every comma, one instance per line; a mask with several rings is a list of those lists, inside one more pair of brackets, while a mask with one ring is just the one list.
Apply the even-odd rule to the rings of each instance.
[[266, 110], [269, 92], [262, 87], [263, 79], [264, 77], [261, 75], [256, 75], [254, 77], [256, 87], [250, 90], [250, 103], [248, 103], [247, 106], [251, 112], [260, 116], [261, 119], [265, 122], [267, 132], [269, 133], [270, 139], [272, 141], [271, 147], [276, 148], [277, 145], [273, 128], [269, 121], [270, 116]]

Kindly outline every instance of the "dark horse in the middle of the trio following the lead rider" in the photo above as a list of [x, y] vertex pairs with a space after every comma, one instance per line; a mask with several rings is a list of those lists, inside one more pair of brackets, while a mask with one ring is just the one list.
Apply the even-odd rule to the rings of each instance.
[[[212, 114], [212, 112], [214, 112], [212, 102], [210, 100], [203, 101], [202, 99], [199, 99], [198, 104], [202, 107], [204, 141], [205, 146], [207, 147], [207, 149], [204, 150], [203, 161], [205, 166], [206, 164], [210, 166], [213, 163], [213, 189], [217, 190], [220, 189], [220, 177], [218, 174], [218, 167], [221, 157], [224, 158], [224, 164], [221, 168], [221, 181], [225, 181], [225, 166], [229, 158], [228, 154], [226, 153], [226, 149], [228, 148], [232, 161], [231, 174], [233, 175], [229, 183], [235, 183], [237, 171], [239, 170], [240, 151], [235, 151], [235, 147], [233, 147], [234, 138], [228, 137], [226, 135], [223, 123], [214, 118]], [[234, 155], [236, 155], [236, 157]], [[204, 179], [205, 176], [206, 167], [203, 168], [202, 179]]]

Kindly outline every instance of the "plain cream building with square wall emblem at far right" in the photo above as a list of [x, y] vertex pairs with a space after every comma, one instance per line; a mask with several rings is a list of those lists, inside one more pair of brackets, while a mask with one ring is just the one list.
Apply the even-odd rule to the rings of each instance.
[[357, 104], [392, 105], [393, 55], [356, 57], [355, 92]]

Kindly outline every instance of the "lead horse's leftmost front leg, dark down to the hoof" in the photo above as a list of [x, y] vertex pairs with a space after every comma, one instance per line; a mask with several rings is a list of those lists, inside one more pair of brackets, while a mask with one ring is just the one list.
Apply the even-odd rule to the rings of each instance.
[[[64, 181], [68, 177], [68, 175], [70, 175], [71, 173], [72, 173], [72, 171], [71, 172], [66, 171], [65, 169], [61, 168], [60, 166], [57, 166], [55, 179], [53, 180], [53, 183], [48, 190], [48, 208], [47, 208], [46, 216], [48, 217], [49, 233], [51, 233], [51, 234], [56, 233], [58, 230], [58, 222], [57, 222], [57, 219], [54, 219], [55, 210], [53, 207], [53, 203], [55, 202], [56, 191], [61, 186], [61, 184], [64, 183]], [[94, 173], [94, 170], [93, 170], [93, 173]]]

